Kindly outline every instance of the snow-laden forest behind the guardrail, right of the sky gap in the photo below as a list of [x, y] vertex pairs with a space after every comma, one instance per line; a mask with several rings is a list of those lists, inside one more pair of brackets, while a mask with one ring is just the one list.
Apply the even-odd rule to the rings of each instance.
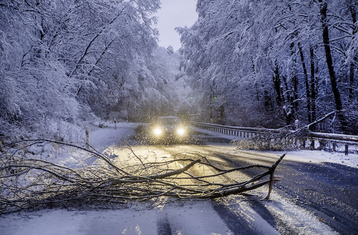
[[198, 0], [198, 20], [176, 30], [206, 121], [356, 134], [357, 6]]

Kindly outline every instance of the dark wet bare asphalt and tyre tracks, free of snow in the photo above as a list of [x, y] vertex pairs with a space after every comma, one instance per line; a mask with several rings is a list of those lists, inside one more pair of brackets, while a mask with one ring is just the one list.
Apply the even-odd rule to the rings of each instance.
[[[189, 144], [198, 147], [229, 143], [230, 139], [198, 132], [193, 132], [189, 141]], [[264, 153], [261, 153], [259, 158], [255, 157], [254, 154], [250, 157], [247, 154], [240, 156], [240, 154], [223, 154], [215, 151], [212, 151], [211, 155], [225, 160], [229, 167], [251, 164], [270, 166], [274, 162], [272, 157], [262, 157]], [[222, 164], [222, 162], [218, 163]], [[258, 173], [258, 170], [255, 169], [246, 172], [250, 176]], [[282, 160], [275, 174], [284, 176], [282, 181], [274, 185], [277, 194], [290, 203], [314, 214], [320, 218], [321, 222], [339, 234], [358, 234], [358, 169], [329, 162], [303, 163]], [[248, 201], [255, 212], [280, 234], [299, 234], [295, 228], [288, 226], [282, 218], [270, 213], [261, 200], [254, 198]], [[212, 203], [220, 218], [226, 222], [234, 234], [257, 234], [255, 228], [246, 224], [244, 219], [238, 218], [229, 208], [215, 201]], [[169, 225], [163, 224], [165, 226], [162, 229], [168, 229]]]

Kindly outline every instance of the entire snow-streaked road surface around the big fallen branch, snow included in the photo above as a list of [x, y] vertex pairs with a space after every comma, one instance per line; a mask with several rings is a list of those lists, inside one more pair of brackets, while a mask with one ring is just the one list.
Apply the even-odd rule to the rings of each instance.
[[[123, 123], [117, 130], [111, 125], [94, 129], [90, 143], [101, 151], [126, 157], [128, 153], [118, 148], [120, 138], [125, 138], [134, 144], [136, 154], [147, 160], [199, 153], [231, 167], [252, 163], [270, 166], [282, 154], [210, 143], [226, 137], [215, 133], [196, 133], [194, 137], [202, 145], [139, 145], [130, 138], [136, 127], [138, 124]], [[250, 191], [253, 196], [178, 201], [152, 209], [137, 204], [116, 210], [24, 212], [0, 217], [0, 234], [354, 234], [358, 233], [357, 163], [358, 156], [353, 154], [288, 152], [277, 168], [284, 179], [276, 183], [270, 200], [262, 200], [267, 194], [267, 186], [263, 186]]]

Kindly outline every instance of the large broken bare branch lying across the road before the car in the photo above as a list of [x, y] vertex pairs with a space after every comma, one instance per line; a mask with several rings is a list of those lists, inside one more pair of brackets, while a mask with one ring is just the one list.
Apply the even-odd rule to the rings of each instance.
[[[31, 151], [31, 147], [37, 146], [37, 149], [42, 147], [43, 152], [46, 145], [83, 151], [88, 158], [96, 157], [96, 164], [73, 169], [53, 162], [53, 157], [39, 157]], [[269, 183], [268, 199], [273, 182], [281, 179], [274, 176], [274, 171], [284, 157], [282, 155], [272, 166], [221, 169], [207, 157], [197, 154], [185, 154], [195, 156], [195, 159], [173, 157], [160, 162], [143, 161], [141, 156], [133, 154], [138, 163], [116, 161], [115, 157], [93, 148], [48, 139], [7, 144], [1, 148], [0, 155], [0, 213], [53, 207], [109, 208], [115, 204], [160, 197], [213, 199], [244, 193]], [[199, 176], [190, 172], [194, 166], [203, 169]], [[251, 168], [263, 171], [243, 181], [218, 180], [221, 176]]]

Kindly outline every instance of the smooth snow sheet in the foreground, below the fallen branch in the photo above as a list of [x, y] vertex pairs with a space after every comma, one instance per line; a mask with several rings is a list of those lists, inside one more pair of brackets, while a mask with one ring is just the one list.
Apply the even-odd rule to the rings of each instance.
[[210, 202], [138, 210], [68, 211], [41, 210], [24, 218], [18, 215], [1, 219], [1, 234], [166, 234], [170, 223], [173, 234], [230, 234]]

